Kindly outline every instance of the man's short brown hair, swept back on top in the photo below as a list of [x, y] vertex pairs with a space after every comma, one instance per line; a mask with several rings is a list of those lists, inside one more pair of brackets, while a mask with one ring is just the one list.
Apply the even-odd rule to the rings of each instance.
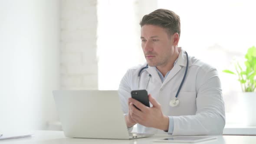
[[167, 30], [167, 34], [170, 36], [174, 33], [178, 33], [181, 36], [181, 20], [180, 16], [171, 10], [158, 9], [152, 13], [143, 16], [140, 25], [141, 27], [150, 24], [160, 26]]

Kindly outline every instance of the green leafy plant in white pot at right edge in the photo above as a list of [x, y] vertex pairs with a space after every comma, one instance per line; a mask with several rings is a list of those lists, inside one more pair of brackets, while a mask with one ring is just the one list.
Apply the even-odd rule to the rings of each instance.
[[[245, 55], [246, 61], [244, 65], [239, 62], [235, 63], [236, 72], [230, 70], [223, 70], [223, 72], [237, 75], [243, 91], [243, 105], [245, 106], [245, 113], [247, 118], [247, 125], [256, 125], [255, 115], [255, 101], [256, 101], [256, 47], [252, 46], [247, 50]], [[243, 69], [245, 68], [245, 69]]]

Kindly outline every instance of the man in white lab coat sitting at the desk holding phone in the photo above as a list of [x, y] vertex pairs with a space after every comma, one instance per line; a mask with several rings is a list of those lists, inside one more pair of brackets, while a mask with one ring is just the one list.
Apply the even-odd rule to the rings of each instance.
[[[222, 135], [225, 111], [217, 70], [178, 47], [180, 17], [158, 9], [143, 16], [140, 25], [147, 63], [128, 69], [118, 89], [128, 130], [137, 124], [138, 133]], [[150, 108], [131, 98], [138, 89], [148, 91]]]

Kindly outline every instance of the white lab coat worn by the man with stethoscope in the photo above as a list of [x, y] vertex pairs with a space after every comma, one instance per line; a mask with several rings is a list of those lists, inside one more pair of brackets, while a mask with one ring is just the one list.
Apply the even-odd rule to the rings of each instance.
[[[148, 94], [161, 104], [164, 115], [173, 116], [172, 135], [222, 135], [225, 126], [225, 108], [220, 79], [217, 70], [212, 66], [189, 56], [187, 77], [178, 95], [180, 103], [176, 107], [169, 105], [181, 84], [186, 64], [187, 57], [181, 49], [177, 63], [163, 83], [155, 67], [149, 66], [141, 73], [139, 89], [145, 89], [148, 75], [151, 74]], [[138, 89], [138, 72], [145, 65], [128, 69], [121, 80], [118, 95], [125, 114], [128, 113], [128, 98], [131, 97], [131, 91]], [[137, 131], [151, 134], [166, 133], [140, 124], [137, 125]]]

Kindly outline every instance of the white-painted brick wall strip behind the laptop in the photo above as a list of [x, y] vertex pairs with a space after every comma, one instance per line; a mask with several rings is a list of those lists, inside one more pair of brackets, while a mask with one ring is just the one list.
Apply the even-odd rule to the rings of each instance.
[[61, 89], [97, 89], [97, 0], [61, 0]]

